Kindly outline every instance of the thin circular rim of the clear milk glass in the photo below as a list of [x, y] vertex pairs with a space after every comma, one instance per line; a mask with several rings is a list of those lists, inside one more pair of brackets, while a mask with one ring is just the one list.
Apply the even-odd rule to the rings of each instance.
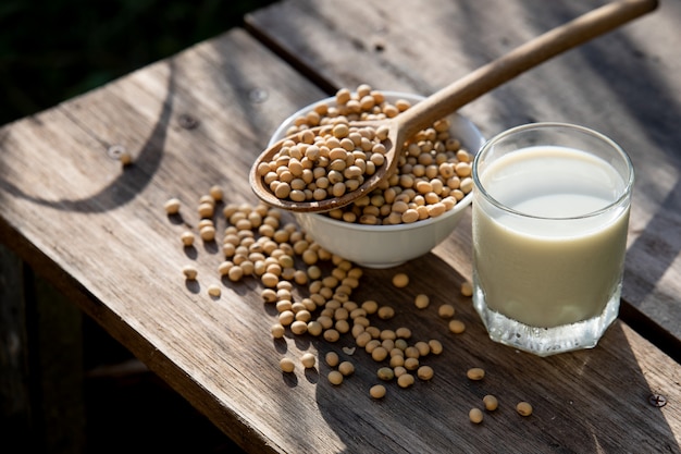
[[[544, 217], [544, 216], [536, 216], [536, 214], [529, 214], [527, 212], [522, 212], [519, 210], [516, 210], [511, 207], [508, 207], [505, 204], [502, 204], [499, 200], [497, 200], [495, 197], [493, 197], [484, 187], [484, 185], [482, 184], [482, 182], [480, 181], [480, 175], [479, 175], [479, 171], [478, 171], [478, 167], [480, 165], [482, 159], [484, 158], [484, 156], [486, 155], [486, 152], [499, 140], [504, 139], [505, 137], [511, 135], [511, 134], [516, 134], [525, 130], [545, 130], [545, 128], [550, 128], [550, 127], [561, 127], [561, 128], [569, 128], [569, 130], [574, 130], [574, 131], [579, 131], [582, 134], [585, 135], [590, 135], [592, 137], [595, 137], [604, 143], [606, 143], [608, 146], [610, 146], [616, 152], [617, 155], [622, 158], [624, 165], [627, 167], [628, 173], [629, 173], [629, 177], [626, 181], [624, 187], [622, 189], [622, 194], [614, 201], [611, 201], [610, 204], [606, 205], [603, 208], [599, 208], [597, 210], [594, 211], [590, 211], [587, 213], [584, 214], [579, 214], [579, 216], [567, 216], [567, 217]], [[500, 132], [499, 134], [493, 136], [492, 138], [490, 138], [487, 142], [485, 142], [483, 144], [483, 146], [480, 148], [480, 150], [475, 154], [475, 157], [473, 158], [473, 169], [472, 169], [472, 177], [473, 177], [473, 185], [474, 185], [474, 189], [480, 192], [482, 194], [482, 196], [485, 198], [486, 201], [488, 201], [490, 204], [494, 205], [496, 208], [506, 211], [508, 213], [515, 214], [515, 216], [519, 216], [519, 217], [523, 217], [523, 218], [532, 218], [532, 219], [537, 219], [537, 220], [546, 220], [546, 221], [569, 221], [569, 220], [580, 220], [580, 219], [587, 219], [587, 218], [593, 218], [596, 216], [599, 216], [602, 213], [605, 213], [607, 211], [610, 211], [611, 209], [614, 209], [615, 207], [621, 205], [628, 197], [631, 196], [631, 192], [633, 189], [633, 184], [634, 184], [634, 168], [633, 168], [633, 163], [631, 162], [631, 159], [629, 158], [629, 155], [627, 155], [627, 152], [622, 149], [622, 147], [620, 147], [615, 140], [612, 140], [610, 137], [606, 136], [605, 134], [602, 134], [597, 131], [594, 131], [590, 127], [586, 126], [581, 126], [579, 124], [572, 124], [572, 123], [562, 123], [562, 122], [537, 122], [537, 123], [528, 123], [528, 124], [522, 124], [519, 126], [513, 126], [511, 128], [508, 128], [506, 131]], [[474, 204], [474, 201], [473, 201]]]

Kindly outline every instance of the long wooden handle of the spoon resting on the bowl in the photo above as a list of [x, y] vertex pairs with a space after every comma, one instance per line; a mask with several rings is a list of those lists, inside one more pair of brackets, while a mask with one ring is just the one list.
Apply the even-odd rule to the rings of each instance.
[[[397, 116], [404, 138], [447, 116], [518, 74], [657, 8], [657, 0], [605, 4], [521, 45], [429, 96]], [[401, 133], [404, 130], [404, 133]]]

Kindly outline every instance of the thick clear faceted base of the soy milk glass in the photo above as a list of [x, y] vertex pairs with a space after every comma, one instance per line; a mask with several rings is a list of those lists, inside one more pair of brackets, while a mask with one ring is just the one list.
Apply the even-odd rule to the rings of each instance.
[[474, 290], [473, 306], [493, 341], [537, 356], [549, 356], [595, 347], [617, 318], [620, 294], [621, 284], [617, 286], [600, 316], [555, 328], [530, 327], [490, 309], [480, 287]]

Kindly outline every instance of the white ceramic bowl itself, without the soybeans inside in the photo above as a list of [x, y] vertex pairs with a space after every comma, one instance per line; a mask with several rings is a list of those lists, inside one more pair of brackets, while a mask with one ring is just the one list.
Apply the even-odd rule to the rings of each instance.
[[[422, 96], [383, 91], [386, 100], [407, 99], [416, 103]], [[294, 120], [314, 108], [317, 103], [335, 103], [335, 98], [322, 99], [307, 106], [288, 119], [273, 134], [270, 145], [283, 138]], [[451, 132], [461, 140], [469, 152], [478, 152], [484, 138], [478, 127], [468, 119], [453, 114], [449, 116]], [[467, 194], [449, 211], [437, 218], [430, 218], [408, 224], [364, 225], [330, 218], [326, 214], [295, 213], [297, 222], [310, 236], [330, 253], [367, 268], [391, 268], [407, 260], [428, 254], [455, 230], [465, 209], [471, 205], [472, 194]]]

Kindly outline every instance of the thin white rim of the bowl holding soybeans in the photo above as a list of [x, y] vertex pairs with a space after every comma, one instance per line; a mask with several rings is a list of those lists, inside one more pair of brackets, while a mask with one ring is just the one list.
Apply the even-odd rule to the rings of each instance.
[[[380, 90], [383, 96], [385, 97], [395, 97], [395, 98], [417, 98], [419, 99], [419, 101], [425, 99], [426, 97], [423, 95], [418, 95], [418, 94], [413, 94], [413, 93], [407, 93], [407, 91], [395, 91], [395, 90]], [[300, 116], [301, 114], [309, 112], [311, 109], [313, 109], [315, 106], [324, 103], [324, 102], [333, 102], [335, 101], [335, 96], [329, 96], [326, 98], [322, 98], [319, 99], [314, 102], [311, 102], [307, 106], [301, 107], [300, 109], [298, 109], [296, 112], [292, 113], [290, 115], [288, 115], [282, 123], [280, 123], [278, 127], [274, 131], [274, 133], [272, 134], [272, 136], [270, 137], [270, 144], [271, 145], [274, 142], [281, 139], [281, 137], [283, 137], [285, 131], [290, 126], [290, 123], [298, 116]], [[470, 119], [468, 119], [467, 116], [458, 113], [458, 112], [454, 112], [450, 115], [457, 115], [466, 121], [468, 121], [473, 127], [474, 131], [476, 132], [478, 136], [480, 137], [480, 140], [482, 144], [484, 144], [486, 142], [485, 137], [482, 135], [482, 133], [480, 132], [480, 130], [478, 128], [478, 126], [475, 125], [475, 123], [473, 123]], [[448, 116], [450, 116], [448, 115]], [[286, 126], [285, 126], [286, 125]], [[275, 139], [275, 137], [278, 137]], [[481, 144], [481, 146], [482, 146]], [[269, 146], [268, 145], [268, 146]], [[478, 150], [468, 150], [469, 152], [471, 152], [473, 156], [478, 154]], [[441, 216], [437, 216], [435, 218], [428, 218], [428, 219], [423, 219], [423, 220], [417, 220], [414, 222], [410, 222], [410, 223], [401, 223], [401, 224], [388, 224], [388, 225], [373, 225], [373, 224], [360, 224], [357, 222], [346, 222], [346, 221], [342, 221], [335, 218], [332, 218], [330, 216], [324, 216], [324, 213], [310, 213], [310, 212], [296, 212], [294, 213], [296, 218], [298, 217], [313, 217], [314, 219], [318, 219], [318, 221], [323, 221], [327, 224], [331, 225], [336, 225], [336, 226], [343, 226], [344, 229], [350, 229], [350, 230], [355, 230], [355, 231], [361, 231], [361, 232], [396, 232], [396, 231], [409, 231], [409, 230], [416, 230], [416, 229], [421, 229], [421, 228], [426, 228], [430, 224], [436, 223], [436, 222], [441, 222], [447, 218], [450, 218], [457, 213], [459, 213], [460, 211], [462, 211], [466, 207], [470, 206], [471, 203], [473, 200], [473, 192], [471, 191], [470, 193], [466, 194], [466, 196], [463, 196], [463, 198], [461, 198], [460, 200], [457, 201], [457, 204], [454, 206], [454, 208], [451, 208], [448, 211], [445, 211], [444, 213], [442, 213]]]

